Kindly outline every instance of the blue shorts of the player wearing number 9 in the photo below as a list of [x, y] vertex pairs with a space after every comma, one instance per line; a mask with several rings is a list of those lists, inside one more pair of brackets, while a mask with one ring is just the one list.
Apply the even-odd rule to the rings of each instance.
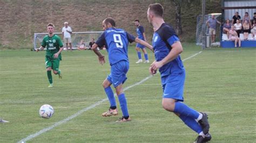
[[126, 80], [126, 73], [129, 70], [129, 62], [122, 60], [111, 66], [111, 73], [107, 76], [107, 80], [113, 84], [114, 88], [123, 84]]

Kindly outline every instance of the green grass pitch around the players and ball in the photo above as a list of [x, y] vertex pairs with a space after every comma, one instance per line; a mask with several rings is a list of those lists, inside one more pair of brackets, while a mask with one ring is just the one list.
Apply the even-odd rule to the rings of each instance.
[[[184, 44], [182, 59], [201, 51]], [[103, 51], [104, 55], [106, 52]], [[101, 66], [91, 51], [63, 52], [63, 79], [53, 75], [48, 88], [44, 52], [0, 51], [0, 142], [17, 142], [43, 128], [74, 115], [105, 99], [101, 85], [109, 63]], [[149, 76], [149, 65], [135, 64], [137, 54], [129, 49], [130, 70], [124, 87]], [[149, 54], [153, 60], [153, 54]], [[211, 142], [256, 141], [256, 48], [211, 48], [184, 62], [185, 103], [207, 112]], [[109, 108], [104, 102], [38, 135], [27, 142], [193, 142], [197, 134], [161, 107], [160, 75], [125, 91], [132, 121], [117, 124], [115, 117], [101, 117]], [[50, 104], [55, 115], [39, 117], [41, 105]], [[118, 110], [121, 116], [121, 110]]]

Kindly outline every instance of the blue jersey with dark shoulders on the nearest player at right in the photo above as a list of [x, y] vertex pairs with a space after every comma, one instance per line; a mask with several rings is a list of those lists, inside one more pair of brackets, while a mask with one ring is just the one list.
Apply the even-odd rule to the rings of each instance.
[[[173, 27], [163, 23], [160, 28], [154, 33], [152, 46], [154, 49], [154, 56], [156, 61], [161, 61], [167, 56], [172, 50], [172, 44], [179, 41]], [[170, 74], [183, 73], [185, 71], [183, 62], [181, 61], [180, 55], [176, 59], [169, 63], [166, 63], [163, 67], [159, 69], [161, 77]]]

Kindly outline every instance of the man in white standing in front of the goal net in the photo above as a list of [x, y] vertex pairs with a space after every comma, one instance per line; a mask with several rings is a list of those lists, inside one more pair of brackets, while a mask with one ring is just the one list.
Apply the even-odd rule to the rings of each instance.
[[62, 34], [63, 34], [63, 40], [66, 44], [66, 51], [69, 51], [70, 47], [70, 51], [72, 51], [72, 44], [71, 44], [71, 34], [72, 34], [72, 29], [69, 26], [68, 22], [64, 23], [64, 27], [62, 28]]

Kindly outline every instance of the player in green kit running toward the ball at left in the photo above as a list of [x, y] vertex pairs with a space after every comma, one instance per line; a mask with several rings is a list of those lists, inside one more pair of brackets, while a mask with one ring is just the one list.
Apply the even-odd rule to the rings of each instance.
[[56, 75], [59, 75], [59, 78], [62, 78], [62, 74], [59, 70], [59, 61], [62, 60], [62, 55], [60, 52], [63, 50], [63, 44], [58, 35], [54, 34], [54, 25], [52, 23], [47, 25], [48, 35], [46, 35], [42, 41], [40, 48], [36, 49], [36, 52], [43, 50], [46, 47], [45, 54], [45, 66], [47, 71], [48, 80], [50, 85], [53, 87], [51, 70]]

